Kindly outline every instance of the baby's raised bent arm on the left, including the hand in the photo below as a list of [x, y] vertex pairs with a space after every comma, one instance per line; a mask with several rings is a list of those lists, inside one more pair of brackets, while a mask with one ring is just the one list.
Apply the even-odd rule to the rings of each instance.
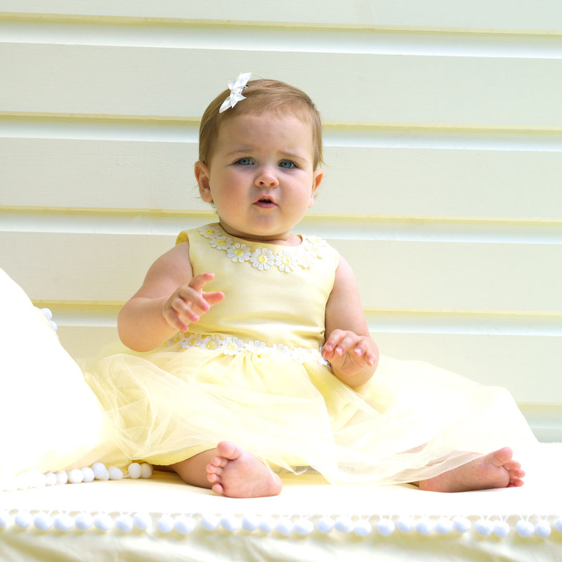
[[183, 242], [150, 266], [143, 285], [125, 303], [117, 317], [121, 341], [134, 351], [150, 351], [185, 332], [190, 322], [222, 301], [221, 292], [203, 292], [213, 273], [193, 276], [189, 244]]

